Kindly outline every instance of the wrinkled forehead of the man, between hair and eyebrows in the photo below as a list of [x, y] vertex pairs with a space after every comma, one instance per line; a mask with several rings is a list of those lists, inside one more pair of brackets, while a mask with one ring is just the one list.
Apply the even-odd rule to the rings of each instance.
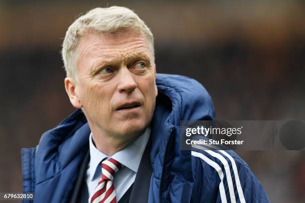
[[112, 34], [89, 33], [80, 39], [77, 52], [78, 64], [88, 64], [95, 60], [124, 60], [133, 55], [152, 58], [152, 50], [146, 37], [133, 31]]

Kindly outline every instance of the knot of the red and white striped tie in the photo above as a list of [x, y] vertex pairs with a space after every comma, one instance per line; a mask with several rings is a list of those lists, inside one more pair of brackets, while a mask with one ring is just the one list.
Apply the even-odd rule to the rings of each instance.
[[113, 181], [113, 177], [116, 172], [118, 172], [122, 165], [120, 162], [114, 160], [113, 158], [102, 161], [102, 179], [105, 181]]

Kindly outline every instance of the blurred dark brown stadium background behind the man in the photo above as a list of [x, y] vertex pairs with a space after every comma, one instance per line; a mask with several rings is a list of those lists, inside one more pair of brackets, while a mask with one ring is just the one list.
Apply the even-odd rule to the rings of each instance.
[[[20, 149], [74, 111], [60, 49], [94, 7], [129, 7], [155, 37], [158, 73], [198, 80], [216, 119], [305, 120], [305, 1], [0, 0], [0, 192], [21, 192]], [[305, 151], [240, 151], [273, 203], [305, 202]]]

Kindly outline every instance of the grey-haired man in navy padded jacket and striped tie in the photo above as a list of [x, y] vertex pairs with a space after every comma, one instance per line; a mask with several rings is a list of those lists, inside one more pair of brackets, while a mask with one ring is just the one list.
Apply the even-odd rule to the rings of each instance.
[[269, 202], [231, 151], [180, 150], [180, 120], [214, 119], [196, 81], [156, 75], [153, 36], [128, 8], [95, 8], [62, 48], [74, 112], [22, 150], [34, 202]]

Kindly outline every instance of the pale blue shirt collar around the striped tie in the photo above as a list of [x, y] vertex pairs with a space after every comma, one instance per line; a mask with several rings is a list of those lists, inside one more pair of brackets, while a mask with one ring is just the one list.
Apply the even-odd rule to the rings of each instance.
[[[142, 155], [150, 138], [151, 128], [148, 127], [145, 132], [139, 136], [134, 142], [130, 143], [127, 147], [118, 151], [111, 158], [117, 160], [124, 166], [128, 167], [135, 173], [138, 172], [139, 165], [142, 159]], [[103, 152], [99, 151], [93, 144], [92, 132], [89, 137], [89, 152], [90, 152], [90, 180], [93, 181], [96, 175], [100, 175], [100, 162], [108, 158]], [[99, 170], [98, 170], [99, 169]], [[97, 173], [98, 171], [98, 173]]]

